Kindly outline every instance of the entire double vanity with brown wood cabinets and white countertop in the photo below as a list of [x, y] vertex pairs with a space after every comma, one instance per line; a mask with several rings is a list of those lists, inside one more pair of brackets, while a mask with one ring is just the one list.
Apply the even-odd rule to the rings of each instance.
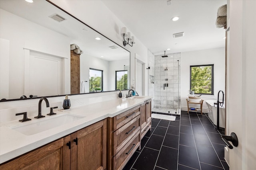
[[150, 96], [54, 113], [26, 122], [18, 121], [20, 115], [0, 124], [0, 169], [122, 169], [151, 129]]

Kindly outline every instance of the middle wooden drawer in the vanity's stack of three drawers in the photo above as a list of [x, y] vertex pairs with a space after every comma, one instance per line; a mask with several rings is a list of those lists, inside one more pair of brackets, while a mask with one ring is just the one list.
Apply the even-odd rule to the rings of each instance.
[[[114, 132], [114, 155], [140, 130], [140, 115]], [[115, 149], [116, 148], [116, 149]]]

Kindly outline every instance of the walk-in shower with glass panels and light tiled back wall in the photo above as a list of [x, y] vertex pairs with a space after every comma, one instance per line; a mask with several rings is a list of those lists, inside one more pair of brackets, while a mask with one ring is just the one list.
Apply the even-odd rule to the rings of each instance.
[[180, 114], [180, 53], [155, 56], [152, 111]]

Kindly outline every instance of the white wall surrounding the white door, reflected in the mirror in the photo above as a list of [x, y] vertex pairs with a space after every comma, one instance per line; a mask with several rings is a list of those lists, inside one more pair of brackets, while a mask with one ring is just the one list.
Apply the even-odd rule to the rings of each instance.
[[70, 93], [68, 37], [0, 9], [0, 38], [10, 41], [9, 98], [24, 95], [24, 48], [65, 58], [66, 94]]

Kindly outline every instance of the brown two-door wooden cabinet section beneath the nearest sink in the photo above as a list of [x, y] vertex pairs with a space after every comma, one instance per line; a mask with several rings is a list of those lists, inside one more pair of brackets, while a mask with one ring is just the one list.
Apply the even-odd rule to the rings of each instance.
[[104, 119], [3, 163], [0, 165], [0, 169], [105, 170], [107, 162], [106, 130], [107, 121]]

